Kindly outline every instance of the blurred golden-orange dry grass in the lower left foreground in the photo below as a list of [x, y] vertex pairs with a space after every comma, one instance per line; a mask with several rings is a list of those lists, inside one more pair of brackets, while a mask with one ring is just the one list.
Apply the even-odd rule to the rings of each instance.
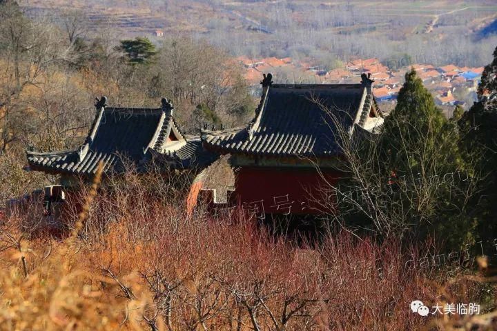
[[144, 330], [142, 321], [146, 321], [150, 295], [137, 281], [137, 275], [130, 275], [127, 281], [144, 299], [134, 297], [129, 301], [109, 295], [119, 283], [88, 268], [81, 259], [77, 236], [97, 194], [101, 170], [99, 167], [75, 227], [65, 241], [24, 239], [26, 232], [21, 232], [16, 221], [19, 214], [3, 223], [1, 330], [116, 330], [119, 326], [124, 330]]

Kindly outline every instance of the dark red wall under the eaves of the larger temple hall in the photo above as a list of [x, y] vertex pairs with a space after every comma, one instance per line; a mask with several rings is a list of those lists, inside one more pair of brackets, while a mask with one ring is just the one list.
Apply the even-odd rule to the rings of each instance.
[[235, 194], [238, 203], [254, 213], [321, 214], [330, 210], [316, 200], [329, 201], [332, 195], [323, 177], [334, 185], [341, 174], [331, 170], [319, 174], [315, 169], [242, 167], [235, 179]]

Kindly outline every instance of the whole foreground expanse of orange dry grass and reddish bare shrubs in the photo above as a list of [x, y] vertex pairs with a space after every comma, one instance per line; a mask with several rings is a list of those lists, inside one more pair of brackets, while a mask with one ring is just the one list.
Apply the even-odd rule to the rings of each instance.
[[447, 272], [406, 270], [396, 240], [342, 233], [311, 249], [241, 212], [212, 219], [199, 208], [188, 218], [181, 181], [107, 179], [88, 214], [66, 219], [67, 239], [21, 232], [27, 215], [8, 219], [0, 329], [421, 330], [432, 320], [409, 311], [414, 298], [478, 294], [474, 281], [460, 290]]

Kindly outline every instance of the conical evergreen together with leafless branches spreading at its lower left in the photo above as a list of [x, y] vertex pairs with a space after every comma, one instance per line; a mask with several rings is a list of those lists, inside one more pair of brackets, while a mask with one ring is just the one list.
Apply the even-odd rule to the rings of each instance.
[[382, 236], [435, 237], [460, 249], [475, 241], [476, 227], [466, 208], [473, 181], [458, 147], [460, 129], [435, 106], [416, 71], [405, 80], [379, 137], [353, 146], [351, 181], [339, 188], [347, 197], [341, 217], [373, 225]]

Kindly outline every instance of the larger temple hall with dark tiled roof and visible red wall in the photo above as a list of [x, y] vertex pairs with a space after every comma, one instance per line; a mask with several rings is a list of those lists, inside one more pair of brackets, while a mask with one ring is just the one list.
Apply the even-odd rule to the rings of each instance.
[[266, 214], [326, 212], [319, 201], [329, 199], [323, 196], [324, 182], [342, 177], [340, 141], [360, 137], [356, 133], [374, 134], [383, 123], [373, 80], [366, 74], [358, 84], [287, 85], [271, 79], [264, 75], [260, 105], [249, 125], [202, 130], [204, 146], [231, 154], [236, 174], [232, 204], [262, 219]]

